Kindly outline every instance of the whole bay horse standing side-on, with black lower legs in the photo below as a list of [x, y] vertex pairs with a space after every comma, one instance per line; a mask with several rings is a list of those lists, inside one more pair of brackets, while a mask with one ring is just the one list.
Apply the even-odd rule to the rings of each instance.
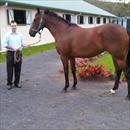
[[75, 58], [90, 58], [104, 51], [111, 54], [115, 65], [115, 83], [111, 93], [118, 89], [121, 72], [124, 71], [130, 100], [130, 33], [117, 24], [105, 24], [93, 28], [81, 28], [72, 24], [56, 13], [37, 9], [29, 34], [35, 37], [36, 33], [46, 27], [55, 38], [56, 50], [60, 55], [64, 68], [66, 92], [69, 87], [69, 61], [73, 74], [73, 89], [76, 89], [77, 77]]

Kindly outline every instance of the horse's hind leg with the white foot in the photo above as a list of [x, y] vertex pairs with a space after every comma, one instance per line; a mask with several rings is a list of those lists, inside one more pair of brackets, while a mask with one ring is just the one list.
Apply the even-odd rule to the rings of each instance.
[[120, 81], [120, 77], [121, 77], [121, 72], [122, 69], [118, 66], [117, 61], [113, 58], [113, 63], [115, 66], [115, 84], [113, 89], [111, 89], [111, 93], [115, 93], [115, 90], [117, 90], [119, 88], [119, 81]]

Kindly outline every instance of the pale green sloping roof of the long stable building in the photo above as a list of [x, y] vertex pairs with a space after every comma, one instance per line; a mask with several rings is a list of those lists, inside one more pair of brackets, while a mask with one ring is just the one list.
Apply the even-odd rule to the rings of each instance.
[[0, 3], [8, 3], [8, 5], [26, 5], [35, 8], [49, 8], [55, 10], [71, 11], [75, 13], [116, 17], [108, 11], [98, 8], [83, 0], [1, 0]]

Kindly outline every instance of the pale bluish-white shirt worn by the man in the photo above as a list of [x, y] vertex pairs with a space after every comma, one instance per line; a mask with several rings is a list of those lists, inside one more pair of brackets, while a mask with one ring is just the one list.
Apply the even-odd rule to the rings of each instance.
[[[8, 32], [5, 34], [2, 40], [2, 46], [5, 48], [8, 45], [15, 47], [16, 49], [22, 50], [23, 48], [23, 35], [20, 32]], [[13, 51], [12, 49], [8, 48], [7, 50]]]

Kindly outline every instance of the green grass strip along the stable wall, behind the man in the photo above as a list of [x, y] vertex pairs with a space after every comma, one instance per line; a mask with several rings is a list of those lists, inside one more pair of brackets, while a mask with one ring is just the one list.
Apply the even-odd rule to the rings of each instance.
[[[49, 43], [49, 44], [44, 44], [44, 45], [39, 45], [39, 46], [33, 46], [29, 48], [23, 48], [23, 57], [27, 57], [33, 54], [37, 54], [40, 52], [44, 52], [47, 50], [52, 50], [55, 49], [55, 44], [54, 43]], [[6, 60], [6, 53], [5, 52], [0, 52], [0, 63], [5, 62]]]

